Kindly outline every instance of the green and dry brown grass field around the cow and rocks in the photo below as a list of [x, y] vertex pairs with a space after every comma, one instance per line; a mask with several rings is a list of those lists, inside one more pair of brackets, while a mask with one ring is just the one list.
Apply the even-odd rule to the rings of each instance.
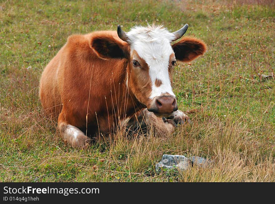
[[[274, 182], [275, 2], [0, 1], [1, 182]], [[66, 146], [38, 98], [43, 68], [75, 33], [134, 25], [189, 28], [205, 55], [178, 63], [174, 93], [193, 125], [87, 149]], [[213, 163], [155, 172], [163, 154]]]

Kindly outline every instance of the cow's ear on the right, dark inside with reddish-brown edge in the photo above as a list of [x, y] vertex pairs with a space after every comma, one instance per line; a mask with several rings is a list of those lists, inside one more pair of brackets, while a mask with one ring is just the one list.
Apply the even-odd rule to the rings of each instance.
[[206, 51], [206, 45], [202, 40], [196, 38], [184, 37], [172, 45], [176, 59], [182, 62], [189, 62], [196, 57], [203, 55]]

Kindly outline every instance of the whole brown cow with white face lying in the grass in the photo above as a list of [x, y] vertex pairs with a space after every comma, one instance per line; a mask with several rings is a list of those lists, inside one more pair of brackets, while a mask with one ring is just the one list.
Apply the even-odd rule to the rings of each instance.
[[121, 124], [171, 133], [188, 118], [178, 110], [173, 69], [177, 60], [203, 55], [206, 45], [193, 37], [171, 45], [187, 28], [169, 32], [148, 25], [125, 32], [118, 25], [117, 31], [69, 36], [43, 70], [39, 88], [42, 108], [58, 119], [62, 140], [83, 147], [112, 138]]

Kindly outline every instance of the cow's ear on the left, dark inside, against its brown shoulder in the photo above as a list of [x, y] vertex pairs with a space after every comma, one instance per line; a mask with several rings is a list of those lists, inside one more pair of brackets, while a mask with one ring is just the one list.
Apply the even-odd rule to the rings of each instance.
[[128, 46], [112, 37], [95, 37], [92, 39], [91, 46], [96, 54], [103, 59], [128, 57]]

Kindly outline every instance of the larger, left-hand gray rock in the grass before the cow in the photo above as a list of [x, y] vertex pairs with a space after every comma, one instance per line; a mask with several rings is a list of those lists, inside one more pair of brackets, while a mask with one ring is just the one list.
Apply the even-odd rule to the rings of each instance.
[[161, 169], [178, 169], [184, 171], [189, 166], [189, 159], [183, 155], [164, 154], [162, 160], [156, 164], [156, 171]]

